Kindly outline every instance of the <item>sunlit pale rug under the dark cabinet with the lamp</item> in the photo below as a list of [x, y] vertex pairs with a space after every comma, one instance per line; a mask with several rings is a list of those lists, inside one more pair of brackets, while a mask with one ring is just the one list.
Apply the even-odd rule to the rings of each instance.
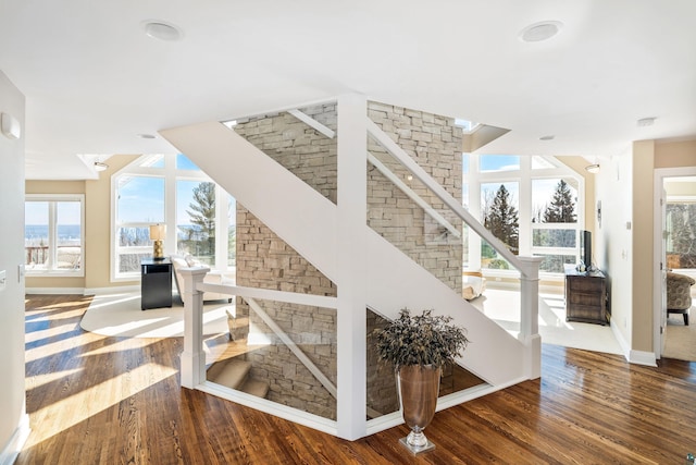
[[[174, 299], [173, 306], [140, 309], [140, 293], [96, 295], [79, 326], [101, 335], [126, 338], [177, 338], [184, 335], [184, 306]], [[203, 338], [228, 331], [225, 310], [234, 303], [215, 302], [203, 307]]]

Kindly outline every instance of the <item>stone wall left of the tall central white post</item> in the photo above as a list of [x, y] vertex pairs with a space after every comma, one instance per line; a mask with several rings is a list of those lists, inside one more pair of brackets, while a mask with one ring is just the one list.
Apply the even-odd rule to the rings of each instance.
[[[336, 130], [335, 103], [300, 111]], [[325, 137], [286, 112], [238, 120], [234, 130], [321, 195], [336, 201], [336, 138]], [[239, 203], [237, 284], [336, 296], [336, 285], [328, 278]], [[259, 304], [335, 384], [336, 311], [268, 301]], [[269, 382], [268, 399], [336, 419], [336, 400], [240, 298], [237, 316], [249, 316], [251, 339], [273, 341], [248, 355], [251, 377]]]

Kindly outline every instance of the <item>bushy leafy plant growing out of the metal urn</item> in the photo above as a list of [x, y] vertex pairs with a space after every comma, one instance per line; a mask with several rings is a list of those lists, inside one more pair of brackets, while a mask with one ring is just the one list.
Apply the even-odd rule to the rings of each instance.
[[467, 330], [451, 325], [451, 320], [434, 316], [432, 310], [411, 316], [402, 309], [399, 318], [375, 330], [380, 358], [390, 362], [396, 370], [409, 365], [442, 367], [453, 362], [470, 341]]

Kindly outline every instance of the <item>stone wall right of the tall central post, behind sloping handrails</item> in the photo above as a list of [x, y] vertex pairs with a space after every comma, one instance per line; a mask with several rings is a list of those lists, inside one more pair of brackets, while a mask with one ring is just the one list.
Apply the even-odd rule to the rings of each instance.
[[[461, 203], [462, 132], [453, 118], [369, 102], [369, 117], [421, 168]], [[369, 150], [461, 233], [462, 221], [372, 138]], [[401, 189], [369, 164], [368, 224], [458, 293], [462, 240], [448, 234]]]

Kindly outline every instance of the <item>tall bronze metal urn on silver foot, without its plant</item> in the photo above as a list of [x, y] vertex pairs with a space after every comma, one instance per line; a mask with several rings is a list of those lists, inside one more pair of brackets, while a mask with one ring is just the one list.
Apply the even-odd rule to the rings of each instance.
[[437, 395], [439, 393], [439, 378], [442, 369], [432, 365], [419, 365], [399, 368], [399, 395], [403, 421], [411, 428], [411, 432], [399, 442], [413, 454], [435, 449], [423, 433], [423, 430], [435, 416]]

